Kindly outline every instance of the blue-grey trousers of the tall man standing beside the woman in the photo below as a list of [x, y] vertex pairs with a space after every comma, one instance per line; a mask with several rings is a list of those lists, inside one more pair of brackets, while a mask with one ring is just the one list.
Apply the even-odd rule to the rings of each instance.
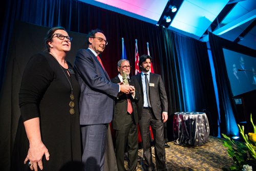
[[82, 125], [83, 170], [103, 170], [109, 124]]

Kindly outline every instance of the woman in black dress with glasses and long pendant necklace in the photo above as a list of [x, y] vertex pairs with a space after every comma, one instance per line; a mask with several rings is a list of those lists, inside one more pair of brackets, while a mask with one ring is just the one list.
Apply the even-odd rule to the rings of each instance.
[[66, 54], [71, 40], [64, 28], [48, 31], [48, 53], [32, 56], [19, 92], [21, 116], [12, 170], [78, 170], [81, 161], [80, 88]]

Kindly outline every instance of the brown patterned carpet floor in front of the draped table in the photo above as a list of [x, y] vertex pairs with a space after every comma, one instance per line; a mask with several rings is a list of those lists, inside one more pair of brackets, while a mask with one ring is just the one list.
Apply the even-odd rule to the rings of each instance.
[[[176, 145], [173, 141], [167, 144], [170, 146], [165, 148], [167, 170], [222, 170], [233, 163], [221, 139], [217, 137], [209, 136], [208, 142], [199, 147]], [[152, 151], [155, 163], [154, 148]], [[139, 150], [139, 156], [141, 154], [142, 149]], [[143, 162], [138, 160], [137, 170], [143, 170], [143, 167]]]

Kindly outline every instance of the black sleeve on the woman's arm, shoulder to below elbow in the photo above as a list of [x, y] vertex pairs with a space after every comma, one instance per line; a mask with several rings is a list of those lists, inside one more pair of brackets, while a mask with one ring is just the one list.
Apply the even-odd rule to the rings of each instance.
[[19, 107], [23, 121], [40, 117], [39, 103], [53, 78], [54, 72], [43, 54], [30, 58], [19, 90]]

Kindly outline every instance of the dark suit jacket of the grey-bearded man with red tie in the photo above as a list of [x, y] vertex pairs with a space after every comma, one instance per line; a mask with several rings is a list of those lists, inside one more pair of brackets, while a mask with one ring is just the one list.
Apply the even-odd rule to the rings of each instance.
[[[121, 82], [119, 77], [116, 76], [111, 79], [112, 82], [114, 83], [119, 83]], [[134, 83], [131, 79], [128, 79], [129, 85], [134, 86]], [[135, 90], [136, 91], [136, 90]], [[132, 101], [133, 105], [133, 117], [134, 121], [137, 124], [138, 123], [138, 111], [137, 111], [137, 106], [136, 106], [136, 101], [139, 100], [139, 93], [136, 91], [135, 92], [135, 98], [132, 97], [131, 94], [128, 95], [130, 100]], [[112, 126], [113, 129], [115, 130], [121, 130], [125, 120], [124, 120], [124, 115], [127, 115], [127, 96], [126, 94], [119, 94], [119, 96], [115, 99], [115, 114], [114, 114], [114, 119], [112, 121]]]

